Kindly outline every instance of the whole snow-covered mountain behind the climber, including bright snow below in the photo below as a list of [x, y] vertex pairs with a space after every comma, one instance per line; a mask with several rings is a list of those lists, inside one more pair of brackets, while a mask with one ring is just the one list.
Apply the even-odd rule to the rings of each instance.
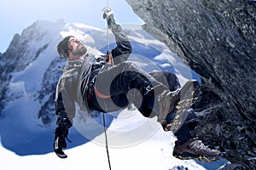
[[[123, 25], [123, 28], [133, 48], [130, 60], [145, 71], [175, 72], [181, 84], [191, 78], [199, 80], [177, 55], [143, 31], [141, 26]], [[39, 20], [21, 35], [16, 34], [7, 51], [0, 54], [0, 138], [3, 145], [3, 148], [0, 147], [0, 157], [1, 162], [10, 169], [16, 165], [9, 165], [9, 160], [19, 161], [19, 166], [26, 166], [32, 160], [40, 164], [39, 169], [48, 166], [40, 160], [50, 164], [60, 163], [52, 153], [56, 119], [54, 98], [55, 85], [61, 76], [57, 66], [65, 65], [65, 59], [59, 57], [55, 47], [62, 37], [68, 35], [83, 41], [90, 54], [105, 54], [108, 49], [105, 28], [67, 24], [62, 20]], [[110, 48], [113, 48], [113, 35], [110, 35], [109, 41]], [[108, 169], [105, 148], [102, 147], [102, 114], [96, 113], [92, 119], [86, 118], [83, 127], [79, 117], [75, 119], [75, 126], [69, 133], [73, 140], [68, 144], [69, 158], [61, 161], [67, 166], [61, 165], [61, 169], [70, 169], [71, 166]], [[144, 118], [137, 110], [111, 113], [106, 118], [113, 169], [218, 169], [226, 163], [224, 159], [213, 163], [177, 160], [172, 156], [173, 134], [164, 133], [154, 119]], [[84, 138], [81, 129], [90, 133], [90, 138]]]

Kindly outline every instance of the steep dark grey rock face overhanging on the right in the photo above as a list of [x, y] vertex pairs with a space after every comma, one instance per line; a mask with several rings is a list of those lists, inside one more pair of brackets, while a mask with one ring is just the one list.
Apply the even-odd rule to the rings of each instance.
[[202, 80], [196, 134], [224, 157], [256, 166], [256, 8], [244, 0], [126, 0], [144, 29]]

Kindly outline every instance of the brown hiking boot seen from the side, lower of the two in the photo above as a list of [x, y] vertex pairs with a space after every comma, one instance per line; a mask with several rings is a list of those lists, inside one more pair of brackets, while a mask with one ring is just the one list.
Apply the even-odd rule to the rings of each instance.
[[211, 150], [201, 140], [194, 138], [185, 142], [175, 142], [173, 156], [182, 160], [216, 161], [220, 158], [220, 151]]

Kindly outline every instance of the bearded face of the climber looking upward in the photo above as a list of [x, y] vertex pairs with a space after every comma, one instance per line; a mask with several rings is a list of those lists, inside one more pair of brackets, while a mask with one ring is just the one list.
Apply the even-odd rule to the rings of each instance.
[[87, 52], [84, 44], [81, 43], [77, 38], [70, 37], [68, 41], [68, 54], [73, 54], [74, 56], [81, 56]]

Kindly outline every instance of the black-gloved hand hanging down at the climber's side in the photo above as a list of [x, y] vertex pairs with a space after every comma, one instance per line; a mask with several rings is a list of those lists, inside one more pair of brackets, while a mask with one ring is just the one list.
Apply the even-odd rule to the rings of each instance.
[[67, 148], [66, 139], [68, 129], [64, 127], [56, 127], [55, 129], [55, 142], [53, 144], [55, 154], [60, 158], [67, 158], [67, 155], [63, 152], [63, 148]]

